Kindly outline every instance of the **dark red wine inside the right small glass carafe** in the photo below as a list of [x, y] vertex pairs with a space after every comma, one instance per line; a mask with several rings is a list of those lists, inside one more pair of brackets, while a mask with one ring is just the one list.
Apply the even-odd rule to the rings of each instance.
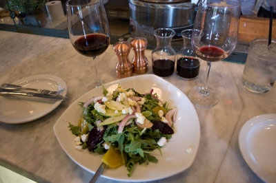
[[193, 79], [199, 75], [199, 60], [193, 57], [181, 57], [177, 60], [177, 75], [186, 78]]

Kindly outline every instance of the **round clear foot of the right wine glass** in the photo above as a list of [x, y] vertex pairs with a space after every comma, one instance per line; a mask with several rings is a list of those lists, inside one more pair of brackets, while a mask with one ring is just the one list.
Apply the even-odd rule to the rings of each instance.
[[212, 107], [219, 103], [219, 94], [215, 90], [203, 87], [193, 87], [188, 93], [188, 98], [192, 103], [200, 107]]

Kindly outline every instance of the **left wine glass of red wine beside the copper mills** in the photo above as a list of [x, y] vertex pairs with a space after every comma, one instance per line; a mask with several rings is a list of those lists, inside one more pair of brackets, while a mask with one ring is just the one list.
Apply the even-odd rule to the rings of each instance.
[[72, 45], [80, 54], [93, 58], [97, 83], [102, 84], [97, 56], [108, 48], [110, 29], [101, 0], [69, 0], [66, 2], [68, 31]]

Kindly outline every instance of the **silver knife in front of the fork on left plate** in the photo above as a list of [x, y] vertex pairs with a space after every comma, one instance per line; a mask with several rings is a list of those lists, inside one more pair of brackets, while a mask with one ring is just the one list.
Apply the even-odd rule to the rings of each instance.
[[20, 92], [20, 91], [14, 91], [11, 89], [1, 89], [1, 88], [0, 88], [0, 95], [28, 96], [28, 97], [37, 97], [37, 98], [48, 98], [52, 100], [68, 100], [67, 96], [62, 96], [58, 94], [39, 94], [39, 93], [33, 93], [33, 92]]

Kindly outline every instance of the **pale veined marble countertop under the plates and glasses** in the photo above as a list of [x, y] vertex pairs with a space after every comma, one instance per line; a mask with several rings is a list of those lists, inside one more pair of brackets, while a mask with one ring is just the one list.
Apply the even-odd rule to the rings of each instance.
[[[63, 112], [95, 82], [91, 58], [82, 56], [69, 39], [0, 31], [0, 83], [51, 74], [62, 78], [67, 86], [68, 102], [50, 114], [21, 125], [0, 122], [0, 160], [45, 180], [46, 182], [89, 182], [90, 173], [75, 164], [61, 149], [53, 126]], [[151, 52], [147, 74], [152, 74]], [[132, 59], [133, 53], [130, 54]], [[99, 56], [99, 69], [105, 83], [117, 80], [117, 56], [112, 46]], [[176, 74], [165, 78], [184, 94], [202, 83], [206, 63], [201, 61], [197, 80], [181, 80]], [[221, 95], [211, 108], [195, 107], [199, 116], [201, 138], [192, 166], [175, 176], [155, 182], [262, 182], [246, 164], [239, 151], [238, 136], [244, 123], [261, 114], [276, 113], [276, 89], [254, 94], [244, 89], [244, 65], [213, 63], [209, 85]], [[116, 182], [100, 177], [99, 182]]]

